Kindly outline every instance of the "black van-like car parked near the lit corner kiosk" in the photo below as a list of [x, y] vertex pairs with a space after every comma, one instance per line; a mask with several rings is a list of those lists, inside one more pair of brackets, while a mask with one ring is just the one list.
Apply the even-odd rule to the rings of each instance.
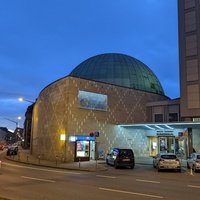
[[113, 165], [116, 169], [118, 167], [130, 167], [135, 166], [135, 157], [132, 149], [112, 148], [110, 153], [107, 154], [106, 163]]

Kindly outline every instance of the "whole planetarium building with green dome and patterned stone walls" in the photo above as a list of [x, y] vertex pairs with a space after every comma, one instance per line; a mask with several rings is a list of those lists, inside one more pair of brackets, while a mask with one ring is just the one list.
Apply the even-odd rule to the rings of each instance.
[[177, 121], [178, 109], [179, 100], [165, 96], [147, 65], [124, 54], [97, 55], [40, 92], [31, 151], [66, 162], [105, 158], [112, 147], [152, 156], [166, 150], [161, 148], [164, 142], [174, 151], [180, 131], [151, 123]]

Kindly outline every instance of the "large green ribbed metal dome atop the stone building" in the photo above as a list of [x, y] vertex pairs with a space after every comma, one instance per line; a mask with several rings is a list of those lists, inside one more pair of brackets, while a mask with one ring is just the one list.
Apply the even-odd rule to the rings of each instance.
[[72, 70], [70, 76], [164, 95], [151, 69], [124, 54], [106, 53], [90, 57]]

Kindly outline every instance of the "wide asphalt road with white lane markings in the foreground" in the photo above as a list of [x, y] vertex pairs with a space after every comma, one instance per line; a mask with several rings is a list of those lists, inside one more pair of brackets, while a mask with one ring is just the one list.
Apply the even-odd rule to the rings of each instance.
[[83, 172], [5, 160], [0, 184], [0, 196], [12, 200], [188, 200], [200, 196], [200, 173], [157, 172], [149, 165]]

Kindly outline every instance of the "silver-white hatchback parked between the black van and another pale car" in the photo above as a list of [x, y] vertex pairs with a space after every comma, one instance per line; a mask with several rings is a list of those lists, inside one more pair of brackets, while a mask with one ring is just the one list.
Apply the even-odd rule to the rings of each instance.
[[159, 153], [153, 157], [153, 167], [158, 171], [173, 169], [181, 172], [181, 162], [174, 153]]

